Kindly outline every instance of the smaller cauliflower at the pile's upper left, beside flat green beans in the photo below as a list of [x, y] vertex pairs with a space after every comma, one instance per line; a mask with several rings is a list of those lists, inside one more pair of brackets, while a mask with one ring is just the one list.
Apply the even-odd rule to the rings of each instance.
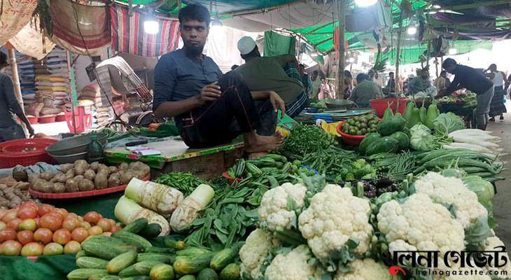
[[[274, 231], [279, 228], [290, 230], [296, 222], [296, 209], [305, 204], [307, 188], [302, 184], [284, 183], [262, 195], [258, 209], [259, 221], [263, 228]], [[293, 200], [296, 208], [289, 209], [288, 202]]]

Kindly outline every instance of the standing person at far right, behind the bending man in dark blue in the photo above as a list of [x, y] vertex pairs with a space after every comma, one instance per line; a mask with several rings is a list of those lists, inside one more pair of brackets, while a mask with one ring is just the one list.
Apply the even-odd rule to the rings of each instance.
[[490, 104], [489, 121], [494, 122], [496, 116], [500, 116], [500, 120], [504, 120], [503, 113], [507, 113], [504, 104], [504, 96], [506, 95], [504, 85], [507, 84], [505, 73], [498, 71], [496, 64], [491, 64], [484, 73], [484, 76], [489, 78], [493, 82], [493, 87], [495, 87]]

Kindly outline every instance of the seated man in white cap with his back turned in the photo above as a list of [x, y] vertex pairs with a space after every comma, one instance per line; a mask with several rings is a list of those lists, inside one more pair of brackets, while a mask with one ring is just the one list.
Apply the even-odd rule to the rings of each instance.
[[286, 113], [294, 118], [307, 106], [309, 97], [304, 90], [300, 66], [294, 55], [261, 57], [253, 38], [244, 36], [238, 50], [245, 64], [235, 69], [243, 76], [251, 91], [276, 92], [286, 104]]

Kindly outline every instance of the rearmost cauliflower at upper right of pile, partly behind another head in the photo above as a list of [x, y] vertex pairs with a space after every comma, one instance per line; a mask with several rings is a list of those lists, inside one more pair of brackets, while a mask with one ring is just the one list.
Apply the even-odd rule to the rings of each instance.
[[434, 202], [453, 205], [456, 220], [466, 229], [477, 218], [488, 216], [488, 211], [477, 200], [477, 195], [463, 185], [463, 181], [430, 172], [414, 183], [416, 193], [428, 195]]

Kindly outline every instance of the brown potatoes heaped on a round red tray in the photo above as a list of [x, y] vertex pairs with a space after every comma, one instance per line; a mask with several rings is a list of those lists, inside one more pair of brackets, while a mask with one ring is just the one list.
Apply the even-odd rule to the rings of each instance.
[[76, 193], [102, 190], [130, 183], [131, 179], [144, 179], [151, 168], [143, 162], [121, 163], [107, 167], [99, 162], [90, 165], [85, 160], [62, 165], [60, 172], [44, 172], [29, 176], [30, 188], [41, 193]]

